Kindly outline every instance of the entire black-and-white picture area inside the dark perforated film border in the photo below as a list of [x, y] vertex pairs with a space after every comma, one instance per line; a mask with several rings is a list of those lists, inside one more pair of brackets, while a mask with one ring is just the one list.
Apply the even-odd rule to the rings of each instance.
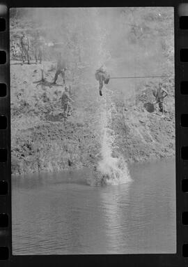
[[173, 7], [10, 8], [13, 255], [175, 254]]

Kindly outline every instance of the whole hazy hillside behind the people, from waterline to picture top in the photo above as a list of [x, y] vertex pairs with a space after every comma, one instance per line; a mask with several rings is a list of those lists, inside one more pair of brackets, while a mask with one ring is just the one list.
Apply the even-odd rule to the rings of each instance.
[[[174, 73], [173, 8], [68, 10], [11, 9], [10, 45], [19, 43], [22, 31], [31, 40], [31, 65], [21, 66], [20, 51], [11, 57], [15, 59], [10, 65], [13, 174], [93, 168], [100, 161], [100, 106], [106, 89], [99, 96], [95, 69], [101, 62], [115, 77]], [[38, 85], [41, 65], [33, 64], [32, 45], [36, 29], [47, 43], [56, 43], [45, 46], [48, 82], [54, 78], [57, 52], [68, 59], [66, 82], [72, 86], [75, 103], [67, 121], [61, 108], [63, 87]], [[62, 84], [61, 78], [57, 82]], [[169, 92], [164, 118], [143, 108], [155, 100], [152, 91], [159, 82]], [[173, 78], [111, 79], [107, 89], [116, 109], [111, 121], [114, 156], [123, 155], [127, 162], [173, 157]]]

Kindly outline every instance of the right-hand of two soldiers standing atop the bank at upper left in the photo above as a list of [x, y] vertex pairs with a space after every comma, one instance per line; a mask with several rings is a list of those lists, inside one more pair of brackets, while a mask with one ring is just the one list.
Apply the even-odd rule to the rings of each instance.
[[43, 50], [45, 45], [45, 39], [40, 35], [40, 31], [37, 31], [36, 38], [34, 40], [35, 58], [36, 64], [42, 63]]

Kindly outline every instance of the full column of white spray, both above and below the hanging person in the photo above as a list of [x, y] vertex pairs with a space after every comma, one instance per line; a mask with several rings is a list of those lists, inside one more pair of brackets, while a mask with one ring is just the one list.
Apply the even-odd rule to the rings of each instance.
[[[105, 64], [111, 59], [109, 50], [107, 50], [108, 32], [105, 27], [101, 27], [99, 10], [93, 10], [95, 18], [95, 30], [97, 40], [97, 50], [95, 53], [95, 61], [98, 66]], [[101, 156], [102, 160], [97, 164], [97, 180], [96, 183], [106, 185], [123, 184], [131, 180], [130, 173], [127, 168], [127, 163], [123, 157], [113, 157], [113, 148], [115, 147], [116, 136], [111, 127], [112, 112], [116, 112], [116, 107], [113, 104], [111, 94], [113, 92], [103, 86], [103, 96], [100, 96], [100, 113], [99, 127], [101, 133]], [[98, 181], [99, 180], [99, 181]], [[94, 182], [94, 184], [95, 184]], [[93, 184], [93, 182], [91, 182]]]

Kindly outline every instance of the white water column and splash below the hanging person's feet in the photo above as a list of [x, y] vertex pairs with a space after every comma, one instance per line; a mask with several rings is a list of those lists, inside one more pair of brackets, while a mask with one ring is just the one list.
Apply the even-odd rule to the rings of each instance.
[[123, 157], [113, 157], [114, 141], [116, 139], [114, 131], [111, 129], [112, 112], [116, 112], [116, 108], [111, 101], [111, 92], [105, 90], [103, 99], [101, 100], [101, 116], [100, 124], [102, 127], [102, 160], [98, 163], [97, 171], [102, 173], [104, 183], [107, 185], [118, 185], [129, 182], [131, 180], [127, 163]]

